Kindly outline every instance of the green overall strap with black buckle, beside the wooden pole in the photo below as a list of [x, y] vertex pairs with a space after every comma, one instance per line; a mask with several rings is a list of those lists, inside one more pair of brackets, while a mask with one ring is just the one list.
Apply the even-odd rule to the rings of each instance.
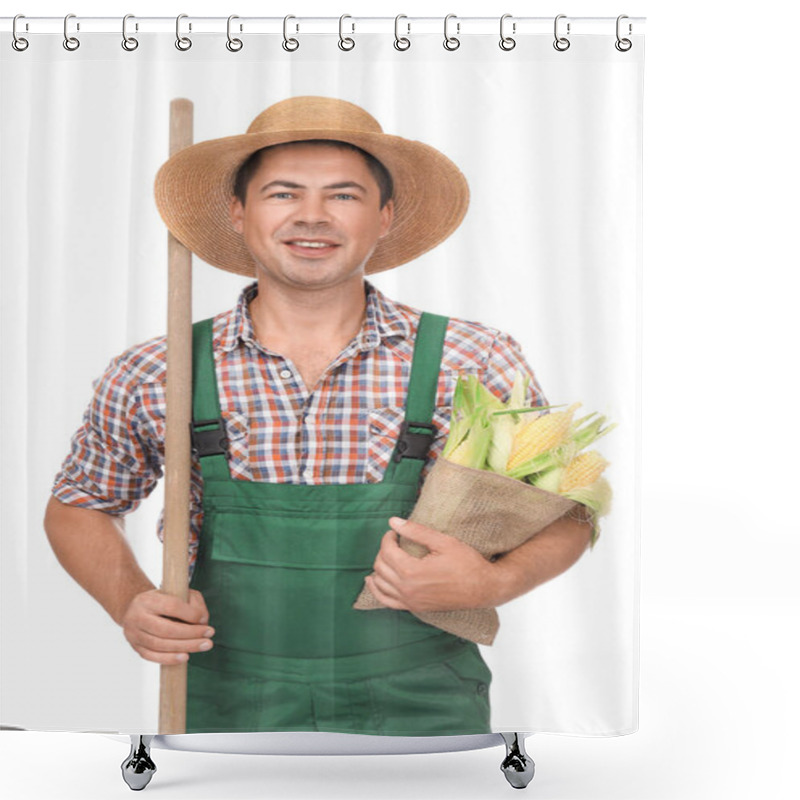
[[192, 450], [203, 480], [229, 480], [228, 439], [219, 406], [214, 366], [214, 320], [192, 325]]

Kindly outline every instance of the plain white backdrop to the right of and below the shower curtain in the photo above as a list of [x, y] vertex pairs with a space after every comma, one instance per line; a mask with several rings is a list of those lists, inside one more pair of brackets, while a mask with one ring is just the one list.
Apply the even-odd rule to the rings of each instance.
[[[39, 2], [29, 15], [263, 15], [259, 5]], [[793, 358], [800, 139], [782, 4], [405, 8], [298, 2], [285, 13], [647, 16], [640, 731], [536, 736], [540, 798], [794, 797], [800, 546]], [[790, 146], [791, 145], [791, 146]], [[796, 360], [796, 359], [794, 359]], [[57, 658], [58, 654], [53, 653]], [[122, 744], [2, 734], [10, 796], [128, 790]], [[499, 749], [277, 758], [156, 751], [174, 798], [508, 796]]]

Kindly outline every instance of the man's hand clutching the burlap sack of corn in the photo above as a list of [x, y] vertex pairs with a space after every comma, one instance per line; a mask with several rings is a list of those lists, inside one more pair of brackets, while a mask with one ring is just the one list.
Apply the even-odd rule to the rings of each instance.
[[[451, 611], [485, 608], [495, 603], [494, 564], [453, 536], [417, 522], [392, 517], [381, 541], [372, 575], [366, 579], [385, 606], [404, 611]], [[397, 543], [397, 533], [425, 545], [415, 558]]]

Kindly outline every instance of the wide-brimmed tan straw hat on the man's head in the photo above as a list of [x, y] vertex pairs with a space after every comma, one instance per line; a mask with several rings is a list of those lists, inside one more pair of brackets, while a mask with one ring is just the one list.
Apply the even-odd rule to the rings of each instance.
[[367, 273], [417, 258], [444, 241], [466, 214], [467, 181], [438, 150], [384, 133], [374, 117], [353, 103], [292, 97], [262, 111], [243, 135], [200, 142], [172, 156], [156, 176], [161, 217], [204, 261], [255, 275], [255, 262], [230, 223], [236, 173], [262, 147], [308, 139], [349, 142], [375, 156], [391, 173], [394, 221], [367, 261]]

